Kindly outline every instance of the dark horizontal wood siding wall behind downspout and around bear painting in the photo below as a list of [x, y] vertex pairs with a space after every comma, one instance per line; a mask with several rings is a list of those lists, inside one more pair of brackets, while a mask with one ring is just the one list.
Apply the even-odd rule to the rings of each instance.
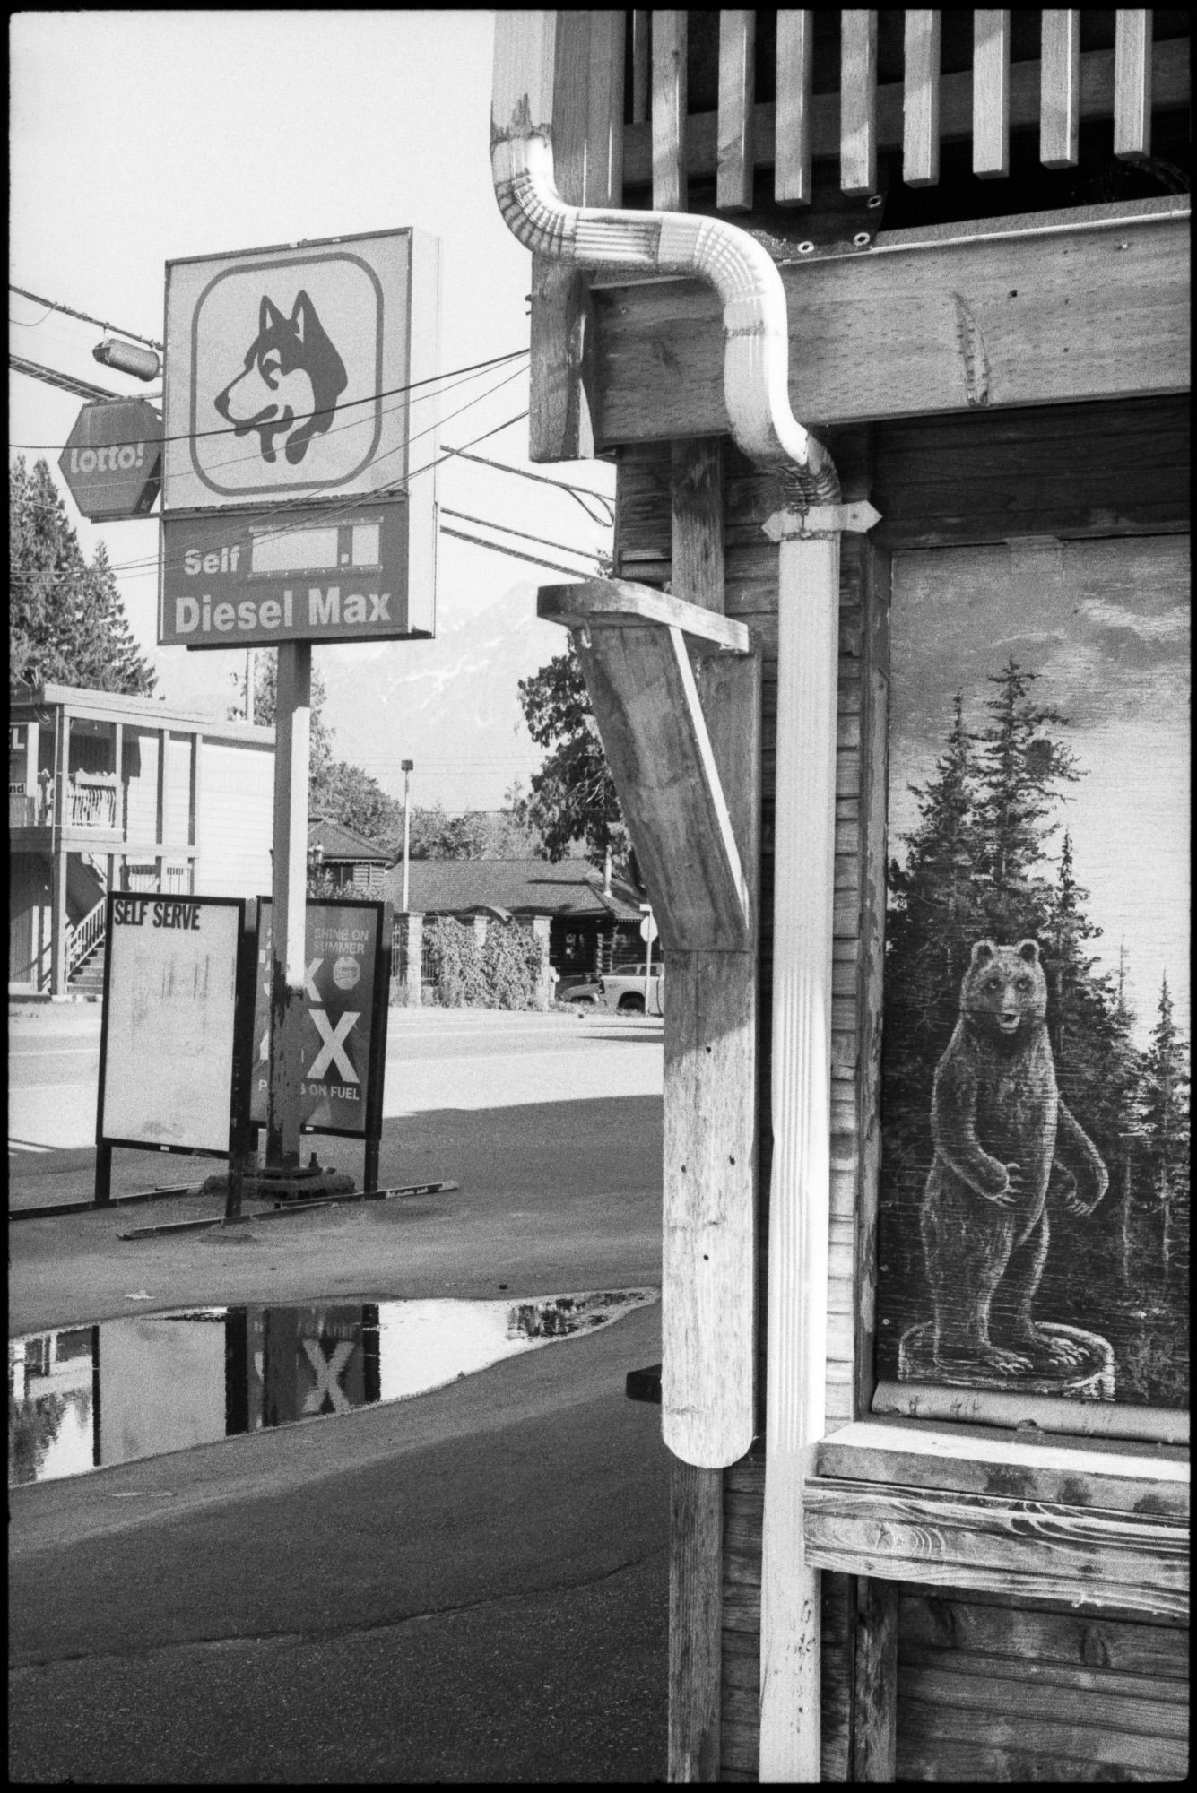
[[[889, 550], [1025, 534], [1186, 527], [1188, 416], [1175, 400], [1059, 405], [1000, 420], [889, 423], [830, 439], [846, 498], [871, 497], [874, 540], [844, 538], [837, 744], [828, 1431], [873, 1393], [878, 1065], [885, 916]], [[778, 549], [783, 502], [726, 445], [726, 610], [765, 653], [758, 1051], [758, 1431], [763, 1429], [769, 1235], [771, 907]], [[667, 586], [670, 450], [618, 452], [616, 574]], [[685, 595], [685, 593], [679, 593]], [[720, 1779], [758, 1779], [763, 1443], [724, 1472]], [[822, 1578], [822, 1777], [853, 1779], [853, 1682], [869, 1583]], [[1084, 1619], [1050, 1603], [944, 1599], [903, 1587], [898, 1777], [1170, 1779], [1184, 1773], [1186, 1633]], [[857, 1764], [858, 1768], [858, 1764]]]

